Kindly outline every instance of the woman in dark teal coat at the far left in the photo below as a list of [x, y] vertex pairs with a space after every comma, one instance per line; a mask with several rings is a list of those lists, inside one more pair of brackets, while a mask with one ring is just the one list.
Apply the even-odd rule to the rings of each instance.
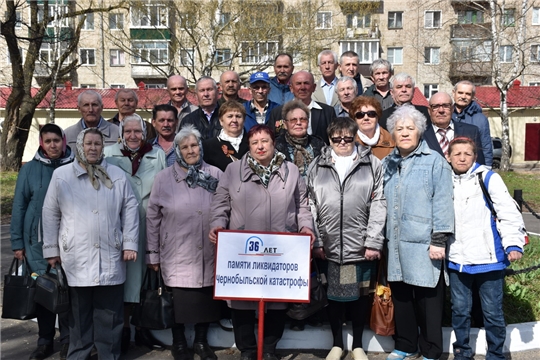
[[[43, 275], [47, 261], [43, 258], [41, 209], [53, 171], [69, 164], [74, 154], [66, 145], [64, 131], [55, 124], [46, 124], [39, 131], [39, 148], [32, 161], [25, 164], [17, 177], [13, 210], [11, 212], [11, 249], [17, 259], [26, 257], [32, 272]], [[56, 314], [36, 304], [38, 347], [30, 359], [45, 359], [54, 351]], [[58, 314], [60, 327], [60, 359], [67, 356], [69, 347], [68, 314]]]

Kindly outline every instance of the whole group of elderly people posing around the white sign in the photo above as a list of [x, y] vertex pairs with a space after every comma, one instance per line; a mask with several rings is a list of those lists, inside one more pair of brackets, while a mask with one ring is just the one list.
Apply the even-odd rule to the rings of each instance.
[[[71, 311], [59, 315], [61, 359], [86, 359], [94, 347], [100, 358], [118, 359], [128, 350], [147, 268], [160, 270], [173, 292], [174, 359], [193, 358], [185, 324], [195, 324], [193, 352], [216, 359], [207, 333], [224, 316], [213, 299], [213, 243], [222, 229], [311, 236], [328, 280], [327, 360], [343, 356], [346, 320], [354, 359], [367, 359], [362, 334], [383, 256], [396, 325], [387, 359], [441, 356], [448, 281], [455, 358], [473, 356], [476, 286], [488, 358], [504, 359], [504, 268], [521, 257], [524, 228], [501, 178], [485, 166], [474, 85], [456, 84], [454, 97], [439, 92], [426, 108], [411, 104], [412, 77], [393, 76], [386, 60], [372, 64], [373, 84], [358, 73], [354, 52], [338, 64], [325, 50], [318, 63], [315, 82], [308, 71], [293, 74], [290, 55], [278, 55], [276, 77], [250, 76], [249, 101], [238, 96], [235, 72], [221, 75], [219, 99], [216, 81], [202, 77], [198, 106], [186, 98], [186, 80], [172, 76], [170, 102], [154, 107], [151, 122], [135, 114], [137, 95], [125, 89], [118, 115], [105, 121], [99, 93], [88, 90], [78, 98], [77, 124], [65, 133], [42, 127], [39, 149], [19, 173], [11, 241], [33, 272], [47, 264], [66, 272]], [[242, 360], [256, 356], [256, 307], [228, 302]], [[286, 309], [266, 304], [265, 360], [277, 359]], [[55, 314], [38, 305], [38, 325], [31, 360], [54, 351]], [[136, 329], [136, 341], [147, 336]]]

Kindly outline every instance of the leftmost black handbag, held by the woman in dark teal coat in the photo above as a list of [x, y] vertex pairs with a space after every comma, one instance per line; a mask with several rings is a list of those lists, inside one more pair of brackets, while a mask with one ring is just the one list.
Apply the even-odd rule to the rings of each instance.
[[[15, 274], [13, 267], [15, 265]], [[4, 296], [2, 299], [2, 318], [27, 320], [36, 317], [36, 280], [32, 278], [26, 258], [22, 260], [22, 273], [18, 274], [19, 260], [13, 258], [9, 272], [4, 275]]]

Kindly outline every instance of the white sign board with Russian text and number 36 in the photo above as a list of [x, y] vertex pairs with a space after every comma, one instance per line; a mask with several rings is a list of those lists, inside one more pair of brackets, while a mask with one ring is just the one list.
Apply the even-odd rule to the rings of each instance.
[[310, 236], [220, 231], [216, 299], [309, 301]]

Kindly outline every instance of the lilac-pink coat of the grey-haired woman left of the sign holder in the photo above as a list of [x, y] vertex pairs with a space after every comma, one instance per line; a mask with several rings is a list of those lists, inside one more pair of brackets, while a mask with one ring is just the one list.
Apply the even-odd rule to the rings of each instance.
[[[204, 162], [201, 170], [217, 179], [222, 176]], [[155, 178], [146, 211], [146, 263], [160, 264], [167, 286], [213, 286], [215, 245], [208, 234], [214, 194], [188, 187], [186, 175], [175, 162]]]

